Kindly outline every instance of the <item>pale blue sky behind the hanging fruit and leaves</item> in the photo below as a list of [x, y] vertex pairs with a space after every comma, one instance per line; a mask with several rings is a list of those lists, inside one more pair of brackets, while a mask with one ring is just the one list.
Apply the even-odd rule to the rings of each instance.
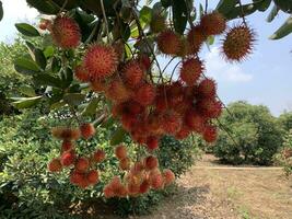
[[[210, 8], [214, 2], [210, 1]], [[244, 1], [245, 2], [245, 1]], [[15, 22], [33, 22], [37, 12], [26, 7], [25, 0], [2, 0], [4, 19], [0, 22], [0, 42], [11, 43], [15, 36]], [[269, 106], [273, 115], [292, 111], [292, 35], [270, 41], [268, 37], [288, 18], [282, 13], [272, 23], [266, 22], [267, 13], [247, 18], [256, 30], [258, 41], [254, 54], [244, 62], [231, 65], [220, 56], [220, 41], [203, 49], [207, 74], [218, 81], [219, 95], [224, 103], [246, 100]], [[232, 25], [232, 22], [230, 23]]]

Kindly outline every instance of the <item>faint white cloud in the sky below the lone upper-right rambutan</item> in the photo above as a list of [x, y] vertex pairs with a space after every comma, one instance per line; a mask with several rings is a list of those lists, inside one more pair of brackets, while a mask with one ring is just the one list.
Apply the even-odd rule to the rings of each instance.
[[218, 47], [213, 47], [206, 55], [205, 60], [208, 76], [213, 77], [218, 81], [248, 82], [254, 78], [253, 74], [245, 73], [240, 65], [225, 62], [220, 56]]

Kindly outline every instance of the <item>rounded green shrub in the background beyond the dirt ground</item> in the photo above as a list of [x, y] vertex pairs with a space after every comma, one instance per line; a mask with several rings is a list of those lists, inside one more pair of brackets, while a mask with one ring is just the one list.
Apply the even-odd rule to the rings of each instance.
[[221, 118], [227, 132], [220, 131], [214, 154], [232, 164], [271, 164], [273, 154], [282, 143], [282, 132], [269, 110], [237, 102], [229, 106], [229, 112], [225, 111]]

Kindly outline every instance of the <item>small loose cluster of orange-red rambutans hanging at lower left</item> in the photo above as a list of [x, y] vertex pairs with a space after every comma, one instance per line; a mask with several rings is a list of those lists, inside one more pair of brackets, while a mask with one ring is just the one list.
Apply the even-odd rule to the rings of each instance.
[[95, 170], [95, 164], [105, 159], [105, 152], [96, 150], [92, 155], [85, 158], [79, 157], [74, 148], [74, 141], [80, 137], [89, 139], [95, 134], [94, 126], [85, 123], [80, 128], [55, 127], [51, 134], [62, 140], [62, 145], [60, 157], [49, 162], [48, 170], [50, 172], [60, 172], [62, 169], [69, 168], [71, 170], [70, 182], [81, 188], [98, 183], [100, 174]]

